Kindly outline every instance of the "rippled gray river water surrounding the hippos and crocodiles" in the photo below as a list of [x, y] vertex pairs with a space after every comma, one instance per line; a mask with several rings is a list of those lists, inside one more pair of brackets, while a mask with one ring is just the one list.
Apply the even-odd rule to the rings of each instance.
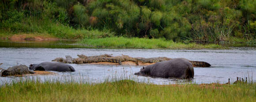
[[[23, 46], [25, 43], [26, 46]], [[33, 42], [34, 43], [34, 42]], [[228, 78], [231, 82], [236, 77], [245, 78], [256, 82], [256, 47], [231, 47], [231, 49], [199, 49], [199, 50], [161, 50], [161, 49], [86, 49], [75, 48], [37, 48], [37, 43], [31, 42], [0, 42], [0, 67], [7, 69], [17, 64], [29, 66], [30, 63], [51, 61], [56, 57], [70, 55], [77, 58], [78, 54], [95, 56], [113, 54], [113, 56], [128, 55], [132, 57], [159, 57], [186, 58], [194, 61], [205, 61], [211, 67], [194, 67], [195, 76], [192, 80], [173, 78], [155, 78], [136, 76], [142, 66], [116, 66], [116, 65], [90, 65], [70, 64], [75, 72], [55, 72], [55, 75], [38, 75], [43, 80], [58, 79], [90, 82], [103, 82], [108, 79], [133, 79], [140, 82], [154, 84], [177, 84], [177, 83], [226, 83]], [[16, 46], [15, 46], [16, 45]], [[20, 45], [20, 46], [19, 46]], [[27, 46], [28, 45], [28, 46]], [[40, 45], [40, 44], [39, 44]], [[51, 44], [49, 44], [51, 45]], [[58, 45], [58, 44], [57, 44]], [[69, 45], [70, 46], [70, 45]], [[0, 82], [8, 82], [19, 77], [0, 77]]]

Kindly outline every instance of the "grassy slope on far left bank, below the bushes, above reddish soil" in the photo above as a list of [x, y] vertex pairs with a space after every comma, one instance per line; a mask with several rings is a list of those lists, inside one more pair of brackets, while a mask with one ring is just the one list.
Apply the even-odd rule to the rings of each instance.
[[22, 31], [15, 31], [11, 29], [0, 29], [0, 38], [11, 38], [13, 35], [30, 34], [34, 36], [43, 36], [44, 38], [58, 38], [58, 39], [98, 39], [111, 37], [113, 32], [109, 32], [107, 29], [99, 31], [98, 29], [75, 29], [62, 24], [54, 24], [49, 22], [48, 25], [34, 25], [36, 28], [30, 28], [30, 26], [24, 26]]

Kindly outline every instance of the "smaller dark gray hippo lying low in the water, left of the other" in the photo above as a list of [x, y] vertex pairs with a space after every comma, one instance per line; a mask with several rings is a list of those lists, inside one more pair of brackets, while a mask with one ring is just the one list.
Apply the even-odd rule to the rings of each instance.
[[75, 71], [75, 69], [67, 63], [60, 62], [43, 62], [39, 64], [30, 64], [30, 70], [43, 70], [43, 71]]

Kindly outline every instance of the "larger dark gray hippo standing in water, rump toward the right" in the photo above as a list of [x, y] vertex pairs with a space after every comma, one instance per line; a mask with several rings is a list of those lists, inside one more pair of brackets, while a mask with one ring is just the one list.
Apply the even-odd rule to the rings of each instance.
[[135, 75], [152, 77], [193, 78], [194, 68], [192, 63], [183, 58], [175, 58], [158, 62], [140, 69]]

